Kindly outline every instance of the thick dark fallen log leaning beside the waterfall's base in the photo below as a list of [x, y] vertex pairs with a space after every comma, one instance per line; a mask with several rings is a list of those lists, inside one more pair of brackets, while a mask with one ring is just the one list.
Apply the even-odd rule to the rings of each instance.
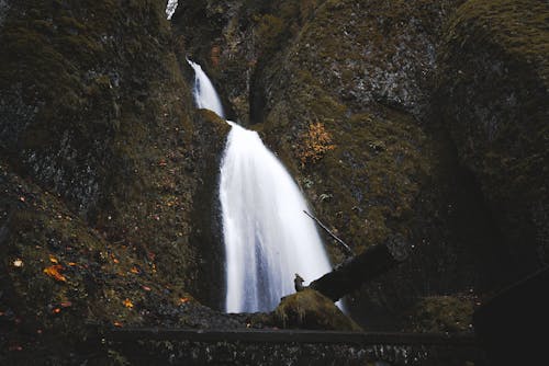
[[332, 272], [311, 283], [309, 287], [334, 301], [358, 289], [362, 284], [404, 262], [410, 255], [410, 243], [401, 236], [393, 236], [384, 243], [368, 248]]

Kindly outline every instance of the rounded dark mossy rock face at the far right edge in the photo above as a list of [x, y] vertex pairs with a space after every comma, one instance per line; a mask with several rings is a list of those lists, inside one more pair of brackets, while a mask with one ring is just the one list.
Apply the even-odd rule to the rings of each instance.
[[467, 1], [445, 31], [439, 106], [524, 275], [549, 256], [549, 4]]

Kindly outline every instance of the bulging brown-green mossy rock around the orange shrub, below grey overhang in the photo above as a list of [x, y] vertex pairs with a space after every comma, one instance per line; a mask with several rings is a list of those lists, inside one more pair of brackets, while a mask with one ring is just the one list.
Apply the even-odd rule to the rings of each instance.
[[[299, 168], [295, 161], [307, 146], [303, 139], [309, 136], [306, 129], [296, 134], [291, 145], [284, 140], [279, 144], [281, 151], [292, 151], [290, 156], [281, 155], [287, 163], [316, 182], [305, 187], [315, 210], [321, 217], [329, 217], [334, 228], [345, 228], [344, 238], [357, 252], [383, 242], [393, 230], [410, 235], [415, 197], [432, 165], [425, 155], [425, 134], [413, 118], [389, 108], [346, 115], [344, 104], [316, 87], [311, 73], [299, 76], [294, 82], [301, 87], [292, 93], [290, 108], [303, 116], [299, 125], [307, 123], [307, 118], [310, 124], [322, 123], [335, 148], [324, 151], [314, 163]], [[277, 126], [276, 121], [282, 118], [271, 113], [266, 124]], [[265, 134], [269, 141], [276, 133], [266, 126]], [[322, 199], [324, 195], [332, 198]], [[338, 258], [337, 250], [333, 254]]]

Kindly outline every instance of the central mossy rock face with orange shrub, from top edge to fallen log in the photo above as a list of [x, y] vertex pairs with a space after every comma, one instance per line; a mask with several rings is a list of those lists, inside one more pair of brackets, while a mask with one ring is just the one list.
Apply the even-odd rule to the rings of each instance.
[[[261, 75], [265, 116], [255, 127], [321, 220], [357, 253], [390, 235], [414, 245], [406, 263], [352, 297], [372, 318], [400, 319], [417, 297], [480, 282], [477, 253], [462, 248], [490, 235], [467, 217], [451, 141], [429, 113], [435, 50], [457, 4], [325, 1], [283, 62]], [[458, 235], [462, 227], [474, 230]]]

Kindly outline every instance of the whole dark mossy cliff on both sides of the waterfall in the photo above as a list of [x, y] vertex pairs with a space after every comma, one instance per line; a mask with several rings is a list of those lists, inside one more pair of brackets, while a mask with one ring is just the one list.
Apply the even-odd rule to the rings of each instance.
[[222, 301], [228, 127], [186, 57], [355, 252], [413, 245], [349, 297], [365, 329], [470, 330], [547, 263], [547, 3], [165, 5], [0, 0], [0, 362], [99, 357], [90, 323], [246, 327], [195, 300]]

